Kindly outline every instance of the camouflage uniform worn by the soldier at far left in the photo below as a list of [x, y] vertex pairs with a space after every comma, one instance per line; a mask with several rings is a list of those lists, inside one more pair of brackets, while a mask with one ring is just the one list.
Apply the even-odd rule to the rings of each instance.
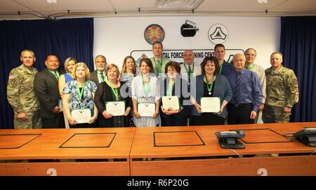
[[[33, 83], [37, 69], [27, 69], [24, 65], [11, 70], [8, 79], [7, 97], [14, 111], [14, 128], [41, 128], [39, 100], [34, 93]], [[18, 118], [25, 112], [27, 120]]]

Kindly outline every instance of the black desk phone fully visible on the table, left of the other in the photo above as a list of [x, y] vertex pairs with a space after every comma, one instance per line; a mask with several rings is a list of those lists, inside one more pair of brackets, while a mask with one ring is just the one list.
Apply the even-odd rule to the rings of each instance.
[[244, 130], [216, 132], [215, 135], [223, 149], [244, 149], [244, 144], [238, 141], [244, 137]]

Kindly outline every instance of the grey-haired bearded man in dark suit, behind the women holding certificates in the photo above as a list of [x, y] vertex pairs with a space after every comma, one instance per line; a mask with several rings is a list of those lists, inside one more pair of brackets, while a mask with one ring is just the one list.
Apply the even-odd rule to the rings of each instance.
[[98, 55], [96, 56], [94, 64], [96, 65], [96, 71], [90, 73], [90, 81], [95, 82], [98, 86], [99, 83], [102, 83], [107, 79], [105, 73], [107, 59], [103, 55]]

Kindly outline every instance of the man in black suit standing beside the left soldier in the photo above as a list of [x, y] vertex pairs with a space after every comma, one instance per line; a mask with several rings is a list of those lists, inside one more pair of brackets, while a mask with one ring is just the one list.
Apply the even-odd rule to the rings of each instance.
[[48, 55], [45, 65], [47, 68], [38, 72], [34, 79], [34, 91], [39, 99], [43, 128], [65, 128], [58, 91], [58, 79], [64, 72], [58, 71], [60, 64], [57, 55]]

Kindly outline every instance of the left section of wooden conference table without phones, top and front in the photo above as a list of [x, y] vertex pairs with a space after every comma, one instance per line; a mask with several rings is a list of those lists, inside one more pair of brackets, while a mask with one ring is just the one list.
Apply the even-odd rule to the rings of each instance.
[[0, 130], [0, 175], [130, 175], [135, 130]]

